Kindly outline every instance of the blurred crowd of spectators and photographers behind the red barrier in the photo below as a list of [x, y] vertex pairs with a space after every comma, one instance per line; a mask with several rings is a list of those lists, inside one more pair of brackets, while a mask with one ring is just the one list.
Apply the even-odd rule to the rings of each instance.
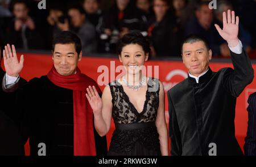
[[[239, 37], [247, 53], [256, 46], [256, 1], [220, 0], [75, 0], [46, 1], [40, 10], [35, 0], [0, 1], [0, 46], [51, 50], [51, 41], [61, 31], [81, 38], [83, 55], [116, 53], [117, 41], [132, 31], [141, 31], [151, 41], [152, 57], [180, 55], [183, 38], [198, 33], [210, 43], [213, 56], [229, 57], [229, 47], [218, 36], [214, 24], [222, 12], [235, 10], [241, 16]], [[243, 10], [246, 9], [246, 12]]]

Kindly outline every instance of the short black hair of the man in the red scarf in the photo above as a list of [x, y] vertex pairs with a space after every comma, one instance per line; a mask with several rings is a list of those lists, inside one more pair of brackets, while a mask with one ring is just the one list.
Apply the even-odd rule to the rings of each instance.
[[76, 52], [80, 54], [82, 44], [80, 38], [70, 31], [62, 31], [58, 33], [52, 40], [52, 51], [55, 49], [56, 44], [75, 44]]

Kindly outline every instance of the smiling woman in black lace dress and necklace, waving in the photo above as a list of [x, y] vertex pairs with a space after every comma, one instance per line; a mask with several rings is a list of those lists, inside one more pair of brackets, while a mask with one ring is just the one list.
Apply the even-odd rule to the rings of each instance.
[[106, 85], [102, 99], [96, 88], [87, 89], [98, 134], [106, 135], [114, 119], [108, 155], [168, 155], [163, 84], [141, 70], [149, 52], [150, 44], [141, 33], [123, 36], [118, 54], [124, 75]]

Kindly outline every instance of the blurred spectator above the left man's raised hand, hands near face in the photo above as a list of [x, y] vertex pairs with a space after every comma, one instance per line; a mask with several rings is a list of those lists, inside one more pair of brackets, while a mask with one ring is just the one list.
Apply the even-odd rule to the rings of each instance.
[[44, 40], [34, 20], [28, 15], [28, 6], [24, 1], [15, 1], [13, 4], [14, 19], [7, 27], [7, 42], [19, 49], [43, 49]]

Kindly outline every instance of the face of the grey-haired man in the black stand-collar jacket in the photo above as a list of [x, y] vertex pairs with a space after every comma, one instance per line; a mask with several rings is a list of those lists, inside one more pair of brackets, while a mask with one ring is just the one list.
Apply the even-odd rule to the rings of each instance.
[[182, 59], [190, 74], [199, 76], [209, 67], [212, 50], [208, 50], [203, 41], [184, 43]]

